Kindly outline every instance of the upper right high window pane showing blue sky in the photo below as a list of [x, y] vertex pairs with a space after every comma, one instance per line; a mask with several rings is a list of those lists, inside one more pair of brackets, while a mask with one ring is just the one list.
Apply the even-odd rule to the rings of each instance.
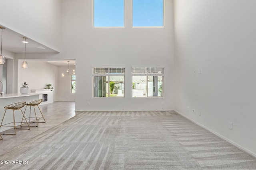
[[163, 26], [163, 0], [132, 0], [133, 26]]

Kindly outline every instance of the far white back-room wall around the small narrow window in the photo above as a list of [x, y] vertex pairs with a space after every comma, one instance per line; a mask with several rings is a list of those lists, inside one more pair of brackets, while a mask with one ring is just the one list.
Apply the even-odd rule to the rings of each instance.
[[[66, 73], [67, 66], [58, 66], [58, 101], [75, 101], [75, 93], [71, 93], [71, 76]], [[75, 66], [69, 66], [69, 70], [75, 70]]]

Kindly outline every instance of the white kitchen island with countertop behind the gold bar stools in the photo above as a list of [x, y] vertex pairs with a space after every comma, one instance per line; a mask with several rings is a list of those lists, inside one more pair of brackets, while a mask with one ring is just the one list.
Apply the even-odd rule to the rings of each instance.
[[[2, 96], [0, 95], [0, 123], [2, 122], [2, 118], [3, 118], [4, 112], [5, 112], [4, 106], [14, 104], [14, 103], [17, 103], [17, 102], [32, 102], [34, 100], [38, 100], [39, 95], [40, 94], [38, 94], [38, 93], [29, 93], [29, 94], [10, 93], [10, 94], [4, 94]], [[25, 107], [26, 106], [24, 106], [22, 108], [22, 112], [24, 112]], [[34, 109], [33, 109], [33, 111], [34, 111]], [[22, 113], [20, 112], [20, 110], [14, 111], [14, 114], [15, 114], [15, 121], [21, 122]], [[29, 110], [26, 111], [26, 115], [28, 115], [28, 114], [29, 114]], [[13, 115], [12, 110], [8, 109], [6, 111], [6, 115], [5, 115], [3, 124], [13, 122], [13, 116], [12, 115]], [[11, 127], [1, 127], [0, 132], [3, 132], [4, 130], [10, 129], [10, 128]]]

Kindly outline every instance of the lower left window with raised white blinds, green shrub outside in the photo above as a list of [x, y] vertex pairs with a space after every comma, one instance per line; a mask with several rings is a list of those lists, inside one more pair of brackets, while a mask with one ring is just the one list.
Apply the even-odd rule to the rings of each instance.
[[94, 97], [124, 97], [124, 68], [93, 68]]

